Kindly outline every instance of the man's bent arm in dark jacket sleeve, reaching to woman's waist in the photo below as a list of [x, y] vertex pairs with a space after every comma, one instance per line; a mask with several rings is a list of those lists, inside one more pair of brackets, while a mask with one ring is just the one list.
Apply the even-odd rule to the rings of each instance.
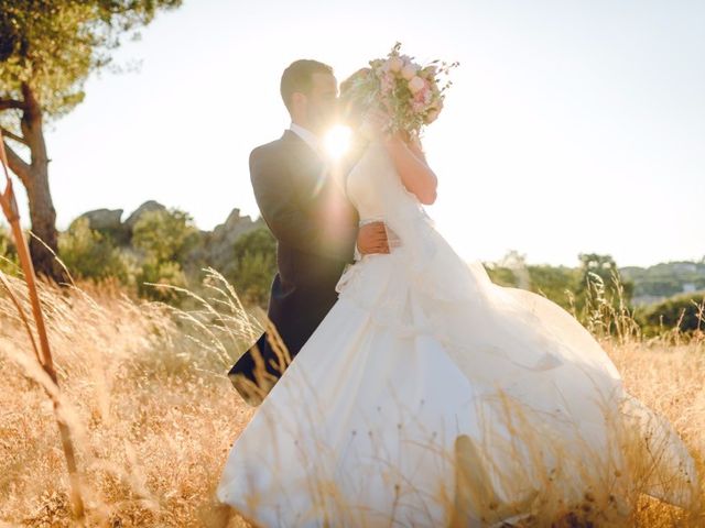
[[296, 198], [288, 163], [256, 148], [250, 154], [250, 178], [257, 205], [274, 238], [307, 253], [349, 258], [357, 226], [335, 229], [334, 222], [312, 220]]

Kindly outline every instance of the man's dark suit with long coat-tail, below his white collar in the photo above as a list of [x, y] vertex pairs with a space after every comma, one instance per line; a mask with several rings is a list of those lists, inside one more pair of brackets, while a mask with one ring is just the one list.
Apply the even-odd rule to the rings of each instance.
[[[278, 241], [278, 273], [268, 316], [292, 360], [337, 300], [335, 286], [354, 258], [358, 215], [344, 190], [348, 168], [349, 164], [344, 164], [326, 169], [315, 151], [290, 130], [250, 154], [254, 197]], [[276, 351], [268, 333], [228, 373], [252, 404], [259, 403], [283, 373], [281, 365], [273, 365], [278, 363]], [[269, 383], [256, 373], [259, 354]], [[253, 396], [252, 384], [259, 387], [259, 396]]]

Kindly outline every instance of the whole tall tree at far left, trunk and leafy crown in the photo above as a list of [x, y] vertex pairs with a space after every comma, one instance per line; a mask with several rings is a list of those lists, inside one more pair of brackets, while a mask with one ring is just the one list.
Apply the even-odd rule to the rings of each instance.
[[[0, 128], [10, 168], [26, 189], [37, 274], [65, 280], [57, 251], [56, 211], [48, 185], [45, 120], [84, 99], [88, 75], [110, 63], [121, 37], [137, 35], [158, 10], [181, 0], [2, 0], [0, 3]], [[17, 150], [15, 150], [17, 147]]]

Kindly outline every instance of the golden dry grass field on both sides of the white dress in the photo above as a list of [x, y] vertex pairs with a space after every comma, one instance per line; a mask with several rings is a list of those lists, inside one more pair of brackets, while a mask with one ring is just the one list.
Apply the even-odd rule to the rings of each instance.
[[[26, 302], [23, 283], [10, 280]], [[89, 526], [209, 526], [217, 517], [220, 470], [252, 416], [225, 372], [251, 329], [217, 274], [203, 292], [182, 311], [109, 285], [42, 285]], [[705, 474], [705, 342], [675, 338], [604, 345], [628, 389], [672, 421]], [[46, 376], [1, 290], [0, 372], [0, 526], [72, 526]], [[642, 497], [630, 525], [705, 526], [704, 507], [686, 513]]]

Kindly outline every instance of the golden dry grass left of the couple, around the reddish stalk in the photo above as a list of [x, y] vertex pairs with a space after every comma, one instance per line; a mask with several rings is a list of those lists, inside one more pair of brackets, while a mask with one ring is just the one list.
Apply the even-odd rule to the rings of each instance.
[[[12, 284], [23, 293], [20, 280]], [[238, 352], [236, 329], [214, 322], [194, 331], [164, 305], [80, 288], [41, 294], [89, 524], [205, 524], [225, 457], [251, 416], [223, 375]], [[69, 526], [52, 406], [2, 295], [0, 372], [0, 520]]]

